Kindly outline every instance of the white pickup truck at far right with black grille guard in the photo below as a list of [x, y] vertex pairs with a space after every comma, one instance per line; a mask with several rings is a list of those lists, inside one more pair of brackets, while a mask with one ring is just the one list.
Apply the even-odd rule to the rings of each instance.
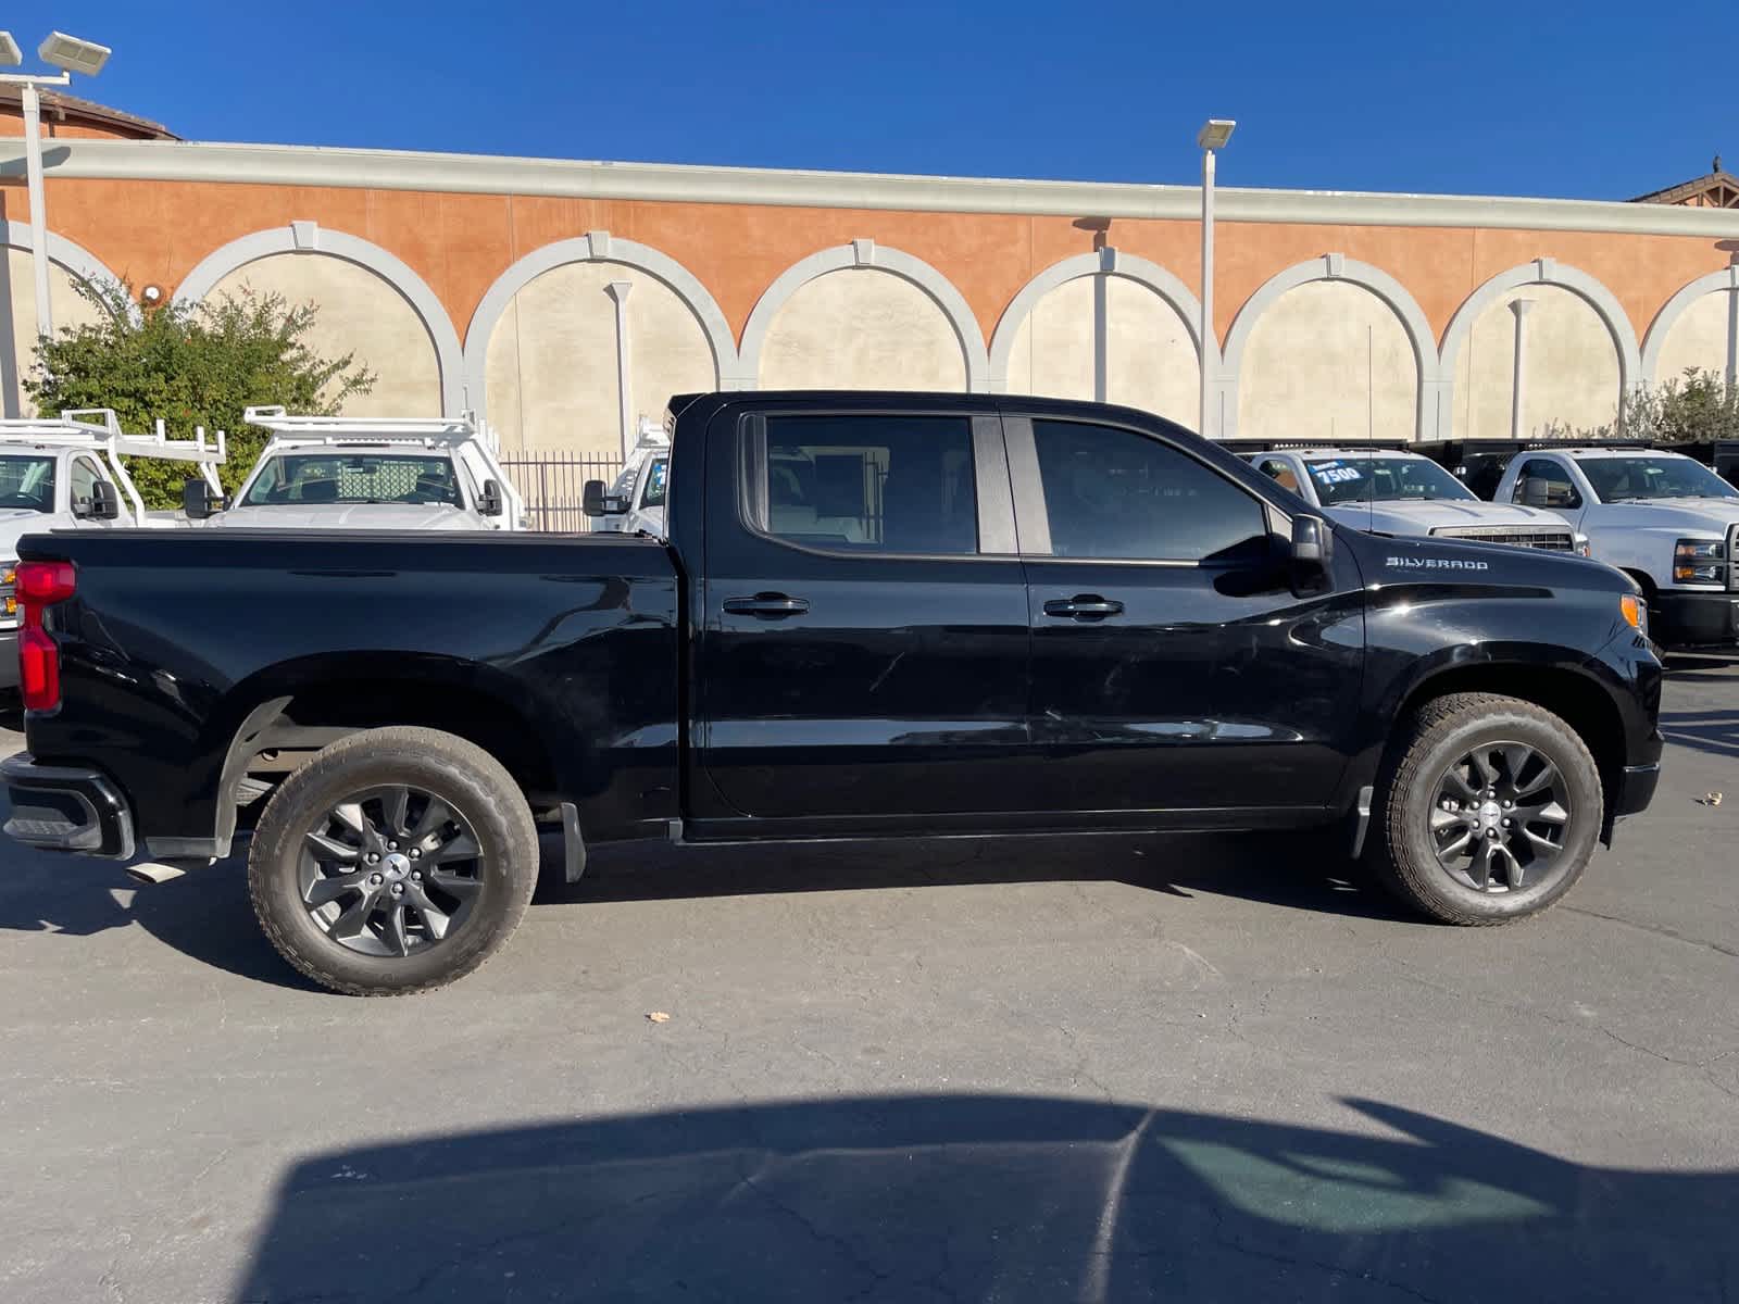
[[1546, 508], [1635, 579], [1662, 647], [1739, 649], [1739, 489], [1676, 452], [1563, 447], [1518, 452], [1492, 497]]

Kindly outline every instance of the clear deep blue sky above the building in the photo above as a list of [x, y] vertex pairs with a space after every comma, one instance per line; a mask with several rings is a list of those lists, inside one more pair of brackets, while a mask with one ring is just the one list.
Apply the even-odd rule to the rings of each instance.
[[[1732, 0], [17, 3], [205, 141], [1628, 198], [1739, 169]], [[1713, 70], [1699, 64], [1713, 61]]]

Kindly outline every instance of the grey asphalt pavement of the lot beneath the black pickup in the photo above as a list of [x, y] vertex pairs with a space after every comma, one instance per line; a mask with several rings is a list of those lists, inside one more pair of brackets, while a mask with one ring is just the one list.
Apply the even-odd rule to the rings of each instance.
[[656, 848], [350, 1000], [235, 866], [0, 847], [0, 1301], [1739, 1297], [1739, 664], [1664, 716], [1494, 930], [1278, 836]]

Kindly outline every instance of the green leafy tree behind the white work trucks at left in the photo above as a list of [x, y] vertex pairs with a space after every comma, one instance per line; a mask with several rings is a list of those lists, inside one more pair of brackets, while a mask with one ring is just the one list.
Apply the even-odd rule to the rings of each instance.
[[[230, 457], [217, 473], [231, 494], [266, 445], [264, 431], [242, 422], [247, 407], [334, 416], [346, 398], [374, 388], [374, 372], [355, 353], [325, 358], [308, 346], [318, 311], [311, 303], [243, 289], [200, 304], [148, 306], [134, 318], [132, 289], [122, 282], [80, 292], [103, 311], [38, 341], [37, 376], [24, 381], [37, 410], [111, 407], [122, 429], [141, 435], [158, 419], [183, 438], [198, 426], [207, 435], [223, 429]], [[132, 457], [127, 471], [148, 508], [181, 504], [184, 462]]]

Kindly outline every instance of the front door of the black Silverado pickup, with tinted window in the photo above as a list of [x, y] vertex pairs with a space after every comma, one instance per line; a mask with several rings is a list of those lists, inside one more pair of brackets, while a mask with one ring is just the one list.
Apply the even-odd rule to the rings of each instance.
[[1183, 447], [1016, 409], [1005, 431], [1050, 800], [1073, 812], [1330, 802], [1363, 661], [1353, 562], [1301, 600], [1271, 509]]

